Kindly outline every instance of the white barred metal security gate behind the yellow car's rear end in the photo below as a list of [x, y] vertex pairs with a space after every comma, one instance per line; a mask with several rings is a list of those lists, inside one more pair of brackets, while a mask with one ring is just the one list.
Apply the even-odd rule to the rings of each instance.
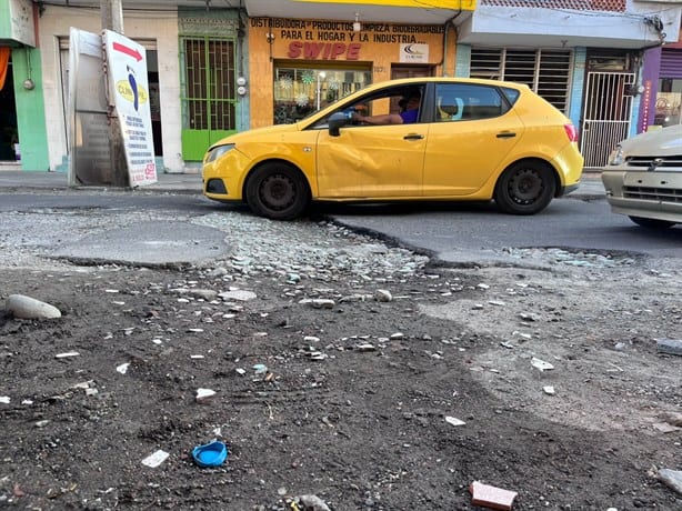
[[589, 72], [580, 151], [588, 168], [606, 164], [609, 153], [630, 133], [633, 72]]

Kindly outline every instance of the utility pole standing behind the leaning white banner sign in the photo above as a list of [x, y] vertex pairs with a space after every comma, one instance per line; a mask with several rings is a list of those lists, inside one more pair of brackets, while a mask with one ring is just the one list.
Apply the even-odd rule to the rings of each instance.
[[[102, 14], [102, 32], [111, 30], [112, 32], [123, 33], [123, 0], [100, 0], [100, 10]], [[107, 57], [104, 52], [104, 66], [107, 67]], [[111, 186], [128, 187], [130, 179], [128, 173], [128, 162], [126, 160], [126, 149], [123, 147], [123, 137], [121, 136], [121, 120], [114, 106], [116, 91], [111, 90], [110, 80], [107, 79], [106, 86], [108, 101], [108, 119], [109, 119], [109, 148], [111, 159], [110, 177]]]

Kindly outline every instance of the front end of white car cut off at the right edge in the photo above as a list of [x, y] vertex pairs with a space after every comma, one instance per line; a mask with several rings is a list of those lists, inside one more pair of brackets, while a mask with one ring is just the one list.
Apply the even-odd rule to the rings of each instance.
[[638, 226], [682, 223], [682, 124], [622, 141], [602, 169], [602, 182], [611, 211]]

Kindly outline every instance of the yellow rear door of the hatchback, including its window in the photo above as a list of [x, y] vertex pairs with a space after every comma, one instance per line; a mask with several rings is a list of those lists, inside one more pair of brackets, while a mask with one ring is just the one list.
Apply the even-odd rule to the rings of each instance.
[[424, 197], [475, 193], [500, 172], [525, 128], [495, 87], [438, 83], [424, 157]]

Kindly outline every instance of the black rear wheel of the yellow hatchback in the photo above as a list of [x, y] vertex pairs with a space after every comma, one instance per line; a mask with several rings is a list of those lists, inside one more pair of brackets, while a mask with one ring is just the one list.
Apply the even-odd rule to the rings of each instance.
[[494, 200], [504, 213], [535, 214], [548, 207], [555, 191], [552, 169], [541, 162], [521, 161], [502, 172]]

